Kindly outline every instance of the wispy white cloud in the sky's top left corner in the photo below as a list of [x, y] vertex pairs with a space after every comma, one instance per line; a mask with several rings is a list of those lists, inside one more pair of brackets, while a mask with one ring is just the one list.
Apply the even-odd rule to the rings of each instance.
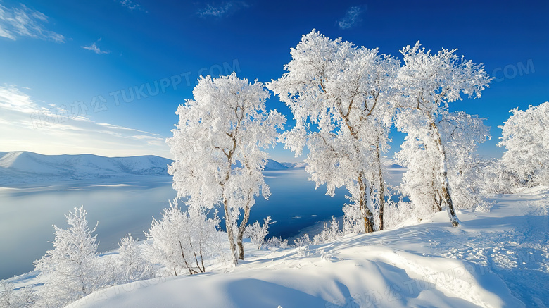
[[64, 43], [65, 37], [57, 32], [46, 30], [48, 16], [39, 11], [20, 7], [7, 8], [0, 4], [0, 37], [16, 40], [19, 37], [32, 37], [57, 43]]

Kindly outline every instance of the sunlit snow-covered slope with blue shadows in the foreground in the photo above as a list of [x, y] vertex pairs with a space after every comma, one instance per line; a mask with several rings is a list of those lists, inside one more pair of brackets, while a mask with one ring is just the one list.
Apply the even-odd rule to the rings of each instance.
[[324, 245], [248, 243], [237, 267], [118, 285], [72, 307], [547, 307], [549, 189], [494, 200], [488, 213], [458, 211], [459, 228], [441, 212]]

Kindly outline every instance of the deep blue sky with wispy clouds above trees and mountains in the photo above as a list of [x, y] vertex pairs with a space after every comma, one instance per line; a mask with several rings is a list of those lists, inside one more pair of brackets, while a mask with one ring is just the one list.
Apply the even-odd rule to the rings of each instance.
[[[508, 111], [549, 100], [549, 1], [447, 2], [0, 0], [0, 151], [170, 157], [165, 137], [198, 75], [277, 79], [315, 28], [384, 54], [419, 40], [485, 63], [491, 88], [452, 109], [488, 118], [479, 153], [498, 157]], [[277, 97], [267, 107], [291, 126]]]

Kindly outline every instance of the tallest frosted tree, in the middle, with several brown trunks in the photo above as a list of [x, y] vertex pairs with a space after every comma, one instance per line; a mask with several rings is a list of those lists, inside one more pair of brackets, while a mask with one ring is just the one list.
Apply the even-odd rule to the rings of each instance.
[[305, 170], [316, 186], [326, 184], [331, 196], [336, 187], [347, 187], [363, 231], [375, 230], [376, 221], [383, 229], [381, 154], [389, 148], [389, 98], [398, 61], [315, 30], [303, 35], [291, 56], [287, 73], [267, 85], [296, 120], [281, 138], [285, 147], [296, 156], [308, 147]]

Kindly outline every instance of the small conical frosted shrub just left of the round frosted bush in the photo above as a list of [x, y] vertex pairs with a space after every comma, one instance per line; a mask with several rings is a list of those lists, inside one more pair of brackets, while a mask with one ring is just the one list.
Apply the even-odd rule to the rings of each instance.
[[131, 283], [155, 277], [153, 264], [146, 259], [144, 252], [137, 245], [137, 240], [130, 233], [125, 235], [118, 245], [118, 283]]

